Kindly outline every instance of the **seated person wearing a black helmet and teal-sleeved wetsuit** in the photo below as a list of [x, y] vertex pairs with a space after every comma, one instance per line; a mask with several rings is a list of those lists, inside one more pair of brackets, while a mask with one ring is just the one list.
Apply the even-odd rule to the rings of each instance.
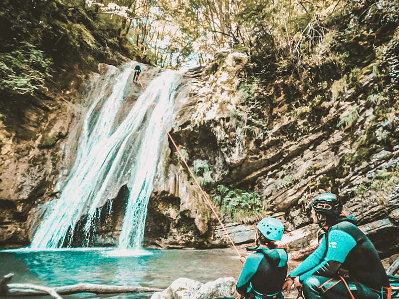
[[317, 249], [287, 277], [305, 299], [390, 299], [388, 276], [370, 239], [343, 211], [338, 195], [322, 193], [312, 201], [312, 218], [323, 233]]

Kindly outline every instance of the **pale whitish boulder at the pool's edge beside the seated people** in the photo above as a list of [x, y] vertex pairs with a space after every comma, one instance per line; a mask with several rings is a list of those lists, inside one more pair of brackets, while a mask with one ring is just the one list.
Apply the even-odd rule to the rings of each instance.
[[238, 294], [232, 277], [219, 278], [205, 284], [188, 278], [175, 280], [166, 290], [154, 293], [151, 299], [232, 298]]

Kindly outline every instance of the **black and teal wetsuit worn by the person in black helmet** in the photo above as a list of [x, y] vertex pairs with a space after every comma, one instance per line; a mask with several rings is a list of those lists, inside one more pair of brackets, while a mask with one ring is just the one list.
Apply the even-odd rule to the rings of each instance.
[[354, 217], [338, 218], [317, 249], [289, 276], [299, 276], [306, 299], [351, 298], [343, 283], [323, 293], [334, 281], [325, 286], [323, 283], [345, 273], [349, 275], [348, 281], [356, 282], [352, 287], [355, 298], [377, 299], [377, 293], [373, 294], [370, 289], [380, 291], [382, 287], [389, 287], [378, 253], [370, 239], [356, 226]]

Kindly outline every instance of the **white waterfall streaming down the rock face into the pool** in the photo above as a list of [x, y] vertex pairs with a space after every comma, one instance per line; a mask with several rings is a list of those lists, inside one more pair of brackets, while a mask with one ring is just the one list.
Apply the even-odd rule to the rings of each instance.
[[[141, 246], [159, 151], [168, 142], [163, 125], [170, 127], [173, 122], [180, 75], [165, 71], [155, 78], [121, 120], [127, 93], [138, 88], [132, 82], [133, 68], [133, 63], [124, 65], [122, 71], [110, 67], [92, 84], [84, 99], [92, 104], [83, 121], [74, 166], [60, 197], [50, 202], [30, 247], [69, 246], [82, 217], [89, 238], [98, 208], [123, 185], [129, 188], [129, 197], [118, 247]], [[115, 80], [112, 92], [106, 88], [109, 78]]]

